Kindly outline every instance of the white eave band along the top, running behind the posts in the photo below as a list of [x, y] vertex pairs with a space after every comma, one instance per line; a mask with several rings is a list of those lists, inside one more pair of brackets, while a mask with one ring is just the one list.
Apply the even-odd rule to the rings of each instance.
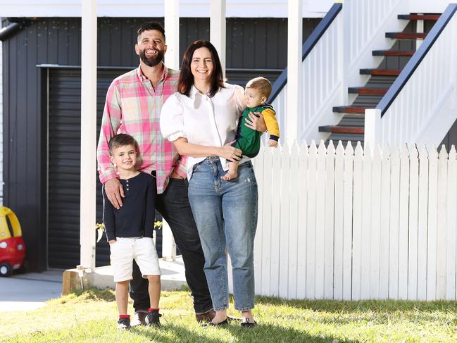
[[[166, 1], [166, 0], [165, 0]], [[334, 0], [303, 0], [303, 18], [322, 18]], [[98, 0], [97, 16], [163, 17], [163, 0]], [[80, 17], [81, 0], [0, 0], [2, 17]], [[209, 18], [210, 0], [180, 0], [180, 17]], [[287, 18], [287, 0], [227, 0], [226, 17]]]

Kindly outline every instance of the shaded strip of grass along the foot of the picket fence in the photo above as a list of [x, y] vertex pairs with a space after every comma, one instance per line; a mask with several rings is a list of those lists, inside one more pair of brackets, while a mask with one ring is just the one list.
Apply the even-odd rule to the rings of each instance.
[[411, 300], [288, 300], [275, 297], [256, 297], [256, 304], [289, 306], [312, 311], [325, 311], [337, 313], [351, 313], [373, 311], [377, 313], [394, 313], [398, 311], [422, 311], [422, 312], [455, 312], [457, 313], [457, 301], [411, 301]]

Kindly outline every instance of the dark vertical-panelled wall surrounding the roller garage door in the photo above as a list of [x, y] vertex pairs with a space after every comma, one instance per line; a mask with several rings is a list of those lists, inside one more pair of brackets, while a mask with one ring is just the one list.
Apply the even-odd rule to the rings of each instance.
[[[99, 18], [97, 64], [137, 66], [135, 32], [146, 20], [163, 23], [163, 18]], [[303, 20], [303, 40], [318, 22], [319, 19]], [[5, 25], [6, 20], [2, 23]], [[180, 20], [181, 55], [195, 39], [209, 39], [208, 18]], [[38, 19], [3, 42], [3, 49], [4, 204], [15, 211], [23, 227], [31, 269], [45, 270], [47, 85], [42, 68], [37, 65], [80, 66], [80, 18]], [[287, 20], [227, 18], [226, 58], [227, 68], [284, 68]], [[236, 73], [232, 75], [237, 77]]]

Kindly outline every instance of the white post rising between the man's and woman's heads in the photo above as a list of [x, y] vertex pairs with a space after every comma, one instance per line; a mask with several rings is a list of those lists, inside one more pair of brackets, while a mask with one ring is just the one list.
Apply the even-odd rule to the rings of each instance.
[[168, 68], [180, 69], [180, 1], [163, 1], [165, 6], [165, 35], [167, 54], [165, 64]]

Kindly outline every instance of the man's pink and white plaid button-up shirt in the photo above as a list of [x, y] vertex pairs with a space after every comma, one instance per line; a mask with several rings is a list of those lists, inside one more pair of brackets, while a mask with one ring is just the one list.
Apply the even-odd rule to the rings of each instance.
[[139, 154], [135, 168], [148, 174], [156, 170], [158, 193], [167, 187], [173, 170], [186, 177], [187, 158], [180, 158], [173, 143], [163, 139], [159, 119], [163, 103], [177, 90], [179, 73], [164, 65], [156, 89], [139, 67], [113, 80], [106, 94], [97, 146], [101, 183], [118, 177], [108, 149], [109, 140], [118, 133], [127, 133], [137, 141]]

